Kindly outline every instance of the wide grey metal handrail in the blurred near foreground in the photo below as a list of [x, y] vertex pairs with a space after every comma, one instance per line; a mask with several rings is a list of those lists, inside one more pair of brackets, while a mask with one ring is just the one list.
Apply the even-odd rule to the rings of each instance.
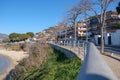
[[78, 80], [117, 80], [93, 43], [88, 43]]

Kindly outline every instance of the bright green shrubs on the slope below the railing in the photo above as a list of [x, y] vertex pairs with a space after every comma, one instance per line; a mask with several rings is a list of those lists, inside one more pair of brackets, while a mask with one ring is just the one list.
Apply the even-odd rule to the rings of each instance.
[[20, 80], [75, 80], [81, 67], [77, 57], [68, 59], [63, 53], [54, 50], [54, 54], [39, 68], [25, 73]]

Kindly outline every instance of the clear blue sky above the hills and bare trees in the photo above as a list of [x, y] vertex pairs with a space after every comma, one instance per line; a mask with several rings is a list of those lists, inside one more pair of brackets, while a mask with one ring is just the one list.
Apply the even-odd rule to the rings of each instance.
[[[79, 0], [0, 0], [0, 33], [40, 32], [57, 25]], [[115, 9], [118, 1], [110, 6]]]

